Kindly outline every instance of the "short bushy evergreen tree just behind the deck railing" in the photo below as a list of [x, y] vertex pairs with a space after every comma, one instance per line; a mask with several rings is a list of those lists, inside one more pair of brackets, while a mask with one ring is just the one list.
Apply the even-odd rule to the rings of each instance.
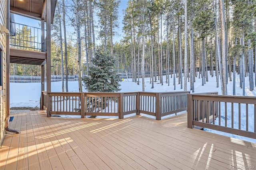
[[117, 92], [120, 91], [121, 78], [114, 71], [114, 57], [109, 52], [97, 50], [93, 67], [89, 69], [89, 77], [84, 77], [84, 87], [88, 92]]

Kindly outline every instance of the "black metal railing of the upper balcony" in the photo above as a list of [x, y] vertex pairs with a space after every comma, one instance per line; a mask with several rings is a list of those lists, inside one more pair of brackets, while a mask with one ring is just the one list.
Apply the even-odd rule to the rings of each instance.
[[11, 22], [11, 24], [13, 26], [15, 25], [16, 34], [10, 36], [10, 48], [28, 51], [46, 51], [45, 38], [43, 43], [41, 41], [42, 32], [46, 35], [46, 30], [14, 22]]

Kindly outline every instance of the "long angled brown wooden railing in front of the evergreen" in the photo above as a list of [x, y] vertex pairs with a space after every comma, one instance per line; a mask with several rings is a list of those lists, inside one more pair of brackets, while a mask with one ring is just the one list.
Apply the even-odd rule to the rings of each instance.
[[[187, 110], [189, 91], [151, 93], [54, 93], [49, 92], [49, 115], [118, 116], [144, 113], [161, 120], [163, 116]], [[41, 108], [46, 110], [46, 92], [42, 92]]]

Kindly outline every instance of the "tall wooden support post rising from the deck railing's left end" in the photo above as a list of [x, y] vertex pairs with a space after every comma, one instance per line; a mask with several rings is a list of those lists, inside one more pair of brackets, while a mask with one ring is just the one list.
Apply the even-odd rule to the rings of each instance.
[[50, 117], [51, 101], [51, 0], [46, 0], [46, 82], [47, 82], [47, 117]]

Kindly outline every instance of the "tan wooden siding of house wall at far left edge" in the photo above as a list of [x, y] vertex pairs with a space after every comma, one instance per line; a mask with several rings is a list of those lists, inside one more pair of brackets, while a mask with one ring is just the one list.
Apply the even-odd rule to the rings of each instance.
[[[6, 10], [7, 10], [7, 1], [0, 0], [0, 24], [6, 27]], [[4, 125], [6, 119], [6, 35], [0, 34], [0, 49], [1, 51], [1, 65], [0, 69], [2, 71], [2, 83], [0, 85], [0, 143], [4, 139]]]

